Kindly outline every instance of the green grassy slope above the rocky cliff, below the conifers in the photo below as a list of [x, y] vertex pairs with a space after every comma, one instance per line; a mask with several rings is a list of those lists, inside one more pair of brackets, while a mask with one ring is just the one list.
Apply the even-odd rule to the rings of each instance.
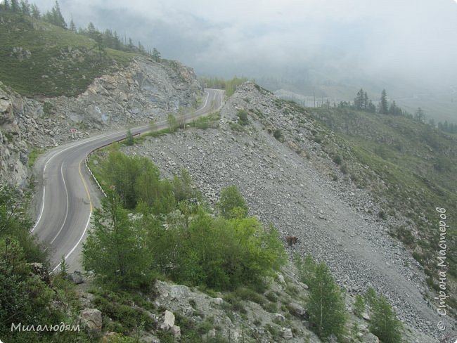
[[24, 96], [74, 96], [132, 53], [25, 15], [0, 12], [0, 80]]

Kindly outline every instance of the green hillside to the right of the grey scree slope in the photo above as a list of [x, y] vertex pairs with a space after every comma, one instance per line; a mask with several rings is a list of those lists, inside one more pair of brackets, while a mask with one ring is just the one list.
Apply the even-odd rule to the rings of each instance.
[[[309, 109], [309, 113], [337, 133], [336, 142], [323, 141], [326, 150], [340, 155], [352, 181], [371, 190], [382, 204], [380, 216], [406, 216], [406, 225], [392, 225], [390, 232], [411, 249], [429, 276], [437, 278], [440, 219], [436, 207], [444, 207], [449, 223], [453, 221], [457, 136], [406, 117], [349, 108]], [[446, 262], [448, 276], [455, 280], [457, 256], [449, 247], [456, 246], [457, 235], [455, 225], [449, 223]]]

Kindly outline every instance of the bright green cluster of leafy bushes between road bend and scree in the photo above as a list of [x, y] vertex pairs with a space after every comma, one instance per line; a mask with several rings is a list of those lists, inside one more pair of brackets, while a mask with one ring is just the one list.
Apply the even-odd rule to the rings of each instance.
[[83, 265], [107, 285], [142, 288], [160, 273], [177, 283], [227, 290], [260, 283], [286, 261], [278, 231], [247, 216], [234, 186], [221, 191], [221, 216], [214, 216], [186, 170], [172, 181], [160, 179], [146, 158], [116, 150], [95, 169], [115, 187], [94, 213]]

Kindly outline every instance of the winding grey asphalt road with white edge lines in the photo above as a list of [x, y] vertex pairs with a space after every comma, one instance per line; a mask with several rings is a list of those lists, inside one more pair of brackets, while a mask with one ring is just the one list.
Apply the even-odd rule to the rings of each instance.
[[[186, 122], [216, 112], [224, 104], [224, 91], [205, 89], [205, 93], [202, 108], [187, 114]], [[156, 124], [157, 129], [167, 127], [166, 120]], [[149, 125], [131, 129], [132, 134], [146, 131], [150, 131]], [[58, 269], [62, 257], [70, 271], [80, 268], [82, 242], [91, 224], [92, 210], [100, 205], [103, 196], [86, 169], [86, 155], [126, 134], [127, 131], [122, 130], [68, 143], [49, 150], [35, 163], [37, 219], [32, 233], [48, 247], [53, 271]]]

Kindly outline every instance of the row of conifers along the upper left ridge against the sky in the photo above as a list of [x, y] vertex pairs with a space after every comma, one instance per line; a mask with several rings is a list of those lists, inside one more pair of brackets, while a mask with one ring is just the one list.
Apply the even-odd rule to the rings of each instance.
[[70, 24], [67, 25], [67, 22], [65, 22], [62, 12], [60, 11], [58, 1], [55, 2], [50, 11], [43, 14], [41, 14], [41, 11], [36, 4], [30, 4], [28, 0], [20, 0], [20, 2], [18, 0], [4, 0], [3, 4], [0, 5], [0, 10], [27, 15], [62, 27], [65, 30], [83, 34], [84, 36], [94, 39], [101, 48], [113, 48], [120, 51], [141, 53], [152, 57], [154, 60], [160, 60], [160, 52], [157, 48], [150, 49], [149, 47], [145, 47], [140, 41], [138, 44], [134, 44], [130, 37], [128, 39], [127, 37], [122, 39], [116, 31], [110, 29], [100, 31], [96, 29], [92, 22], [89, 22], [89, 25], [87, 25], [86, 28], [79, 27], [79, 29], [77, 29], [75, 22], [73, 22], [73, 18], [70, 19]]

